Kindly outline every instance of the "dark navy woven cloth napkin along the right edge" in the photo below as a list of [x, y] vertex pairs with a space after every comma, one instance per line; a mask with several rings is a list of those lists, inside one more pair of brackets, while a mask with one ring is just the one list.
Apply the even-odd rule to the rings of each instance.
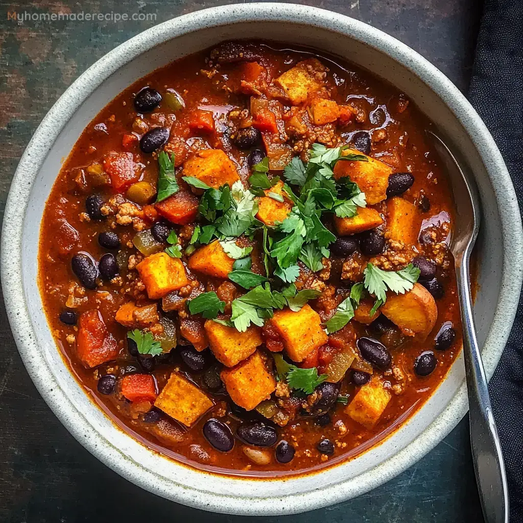
[[[523, 0], [486, 0], [469, 99], [505, 159], [523, 209]], [[523, 260], [521, 260], [523, 263]], [[510, 522], [523, 523], [523, 301], [489, 386], [503, 448]]]

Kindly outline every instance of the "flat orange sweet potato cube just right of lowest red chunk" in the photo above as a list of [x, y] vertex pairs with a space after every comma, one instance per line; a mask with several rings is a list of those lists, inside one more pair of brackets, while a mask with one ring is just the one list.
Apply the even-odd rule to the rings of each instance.
[[196, 385], [173, 372], [154, 406], [168, 416], [190, 427], [212, 406], [213, 402]]

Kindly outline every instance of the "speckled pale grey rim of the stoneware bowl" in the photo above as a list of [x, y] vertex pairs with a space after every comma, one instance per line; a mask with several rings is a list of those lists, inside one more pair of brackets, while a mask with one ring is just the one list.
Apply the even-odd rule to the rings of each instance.
[[[223, 496], [183, 485], [173, 485], [166, 480], [164, 484], [154, 484], [151, 480], [154, 478], [157, 481], [158, 476], [154, 475], [153, 471], [147, 471], [124, 456], [93, 431], [92, 427], [86, 426], [87, 420], [76, 411], [66, 392], [58, 386], [50, 369], [46, 368], [44, 358], [38, 357], [35, 351], [31, 351], [36, 334], [30, 322], [22, 283], [22, 235], [32, 183], [66, 122], [84, 100], [121, 66], [167, 40], [203, 28], [252, 20], [308, 24], [340, 36], [348, 36], [378, 49], [421, 78], [446, 103], [468, 132], [485, 165], [496, 200], [503, 202], [503, 212], [500, 213], [504, 248], [502, 288], [487, 339], [489, 357], [484, 362], [487, 377], [492, 376], [516, 314], [522, 278], [522, 271], [518, 266], [523, 252], [519, 207], [501, 153], [468, 100], [434, 65], [379, 29], [354, 18], [316, 7], [253, 3], [199, 10], [139, 33], [90, 66], [56, 101], [40, 123], [20, 159], [5, 209], [1, 250], [2, 286], [15, 342], [32, 381], [64, 426], [101, 462], [145, 490], [188, 506], [231, 514], [289, 514], [320, 508], [365, 493], [410, 467], [447, 436], [467, 412], [466, 385], [461, 385], [444, 411], [403, 450], [356, 478], [336, 485], [301, 494], [289, 494], [285, 497], [253, 498], [235, 494]], [[52, 387], [49, 386], [50, 383], [53, 384]], [[87, 437], [89, 432], [90, 437]], [[319, 474], [328, 473], [328, 470], [327, 468]]]

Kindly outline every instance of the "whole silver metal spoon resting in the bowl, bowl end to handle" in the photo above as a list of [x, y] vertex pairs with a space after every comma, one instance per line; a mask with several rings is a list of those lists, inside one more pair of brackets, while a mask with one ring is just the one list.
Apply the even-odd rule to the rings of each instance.
[[492, 414], [487, 380], [480, 349], [477, 346], [472, 297], [470, 292], [470, 254], [480, 226], [479, 197], [467, 181], [456, 158], [433, 132], [433, 140], [444, 167], [449, 173], [456, 204], [450, 249], [456, 264], [456, 279], [463, 324], [463, 355], [469, 394], [470, 440], [477, 487], [483, 516], [487, 523], [508, 523], [508, 489], [505, 464]]

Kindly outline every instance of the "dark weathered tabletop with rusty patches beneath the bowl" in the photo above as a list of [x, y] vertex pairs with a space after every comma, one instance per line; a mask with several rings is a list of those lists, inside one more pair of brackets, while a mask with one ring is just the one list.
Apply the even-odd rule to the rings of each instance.
[[[154, 24], [229, 2], [2, 0], [0, 14], [0, 210], [19, 157], [65, 88], [100, 56]], [[481, 16], [477, 0], [322, 0], [399, 38], [466, 91]], [[128, 21], [34, 21], [40, 13], [128, 14]], [[13, 13], [16, 12], [16, 15]], [[132, 14], [150, 15], [133, 21]], [[151, 16], [152, 15], [152, 16]], [[18, 21], [15, 17], [18, 17]], [[110, 17], [110, 15], [109, 15]], [[136, 18], [136, 17], [135, 17]], [[142, 18], [146, 18], [142, 16]], [[21, 20], [21, 21], [20, 21]], [[3, 302], [2, 302], [3, 303]], [[0, 310], [0, 520], [12, 523], [203, 520], [237, 522], [142, 491], [92, 457], [60, 424], [29, 379]], [[261, 520], [261, 518], [253, 518]], [[272, 521], [482, 521], [463, 420], [414, 467], [334, 507]]]

